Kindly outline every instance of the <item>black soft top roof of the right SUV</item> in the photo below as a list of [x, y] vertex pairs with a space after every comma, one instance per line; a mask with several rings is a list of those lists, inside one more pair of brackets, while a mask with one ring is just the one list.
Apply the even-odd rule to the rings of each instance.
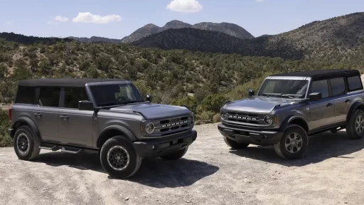
[[313, 80], [320, 80], [326, 78], [336, 78], [336, 77], [351, 77], [359, 75], [359, 70], [349, 70], [349, 69], [331, 69], [331, 70], [306, 70], [298, 71], [292, 73], [280, 73], [271, 76], [290, 76], [290, 77], [310, 77]]

